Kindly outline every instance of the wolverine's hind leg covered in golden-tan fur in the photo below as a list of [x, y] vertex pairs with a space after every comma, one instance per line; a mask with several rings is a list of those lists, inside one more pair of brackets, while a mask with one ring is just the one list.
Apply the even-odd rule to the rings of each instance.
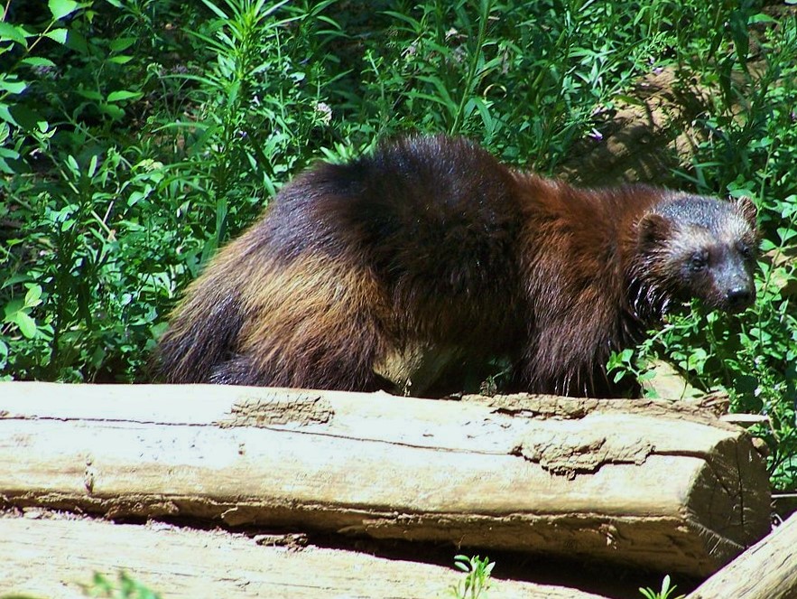
[[373, 272], [341, 257], [300, 256], [250, 277], [236, 356], [218, 382], [372, 391], [385, 351], [385, 291]]

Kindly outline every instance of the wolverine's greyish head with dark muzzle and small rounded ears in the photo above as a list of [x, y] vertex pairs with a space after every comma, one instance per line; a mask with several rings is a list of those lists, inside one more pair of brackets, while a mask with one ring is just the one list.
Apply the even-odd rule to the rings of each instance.
[[744, 310], [755, 300], [755, 214], [749, 198], [677, 194], [659, 202], [638, 223], [638, 276], [659, 298], [697, 297], [711, 308]]

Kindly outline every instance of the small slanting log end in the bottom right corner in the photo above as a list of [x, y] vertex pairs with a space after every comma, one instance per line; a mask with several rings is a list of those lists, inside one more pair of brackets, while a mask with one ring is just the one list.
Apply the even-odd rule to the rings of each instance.
[[688, 599], [797, 597], [797, 514], [700, 585]]

